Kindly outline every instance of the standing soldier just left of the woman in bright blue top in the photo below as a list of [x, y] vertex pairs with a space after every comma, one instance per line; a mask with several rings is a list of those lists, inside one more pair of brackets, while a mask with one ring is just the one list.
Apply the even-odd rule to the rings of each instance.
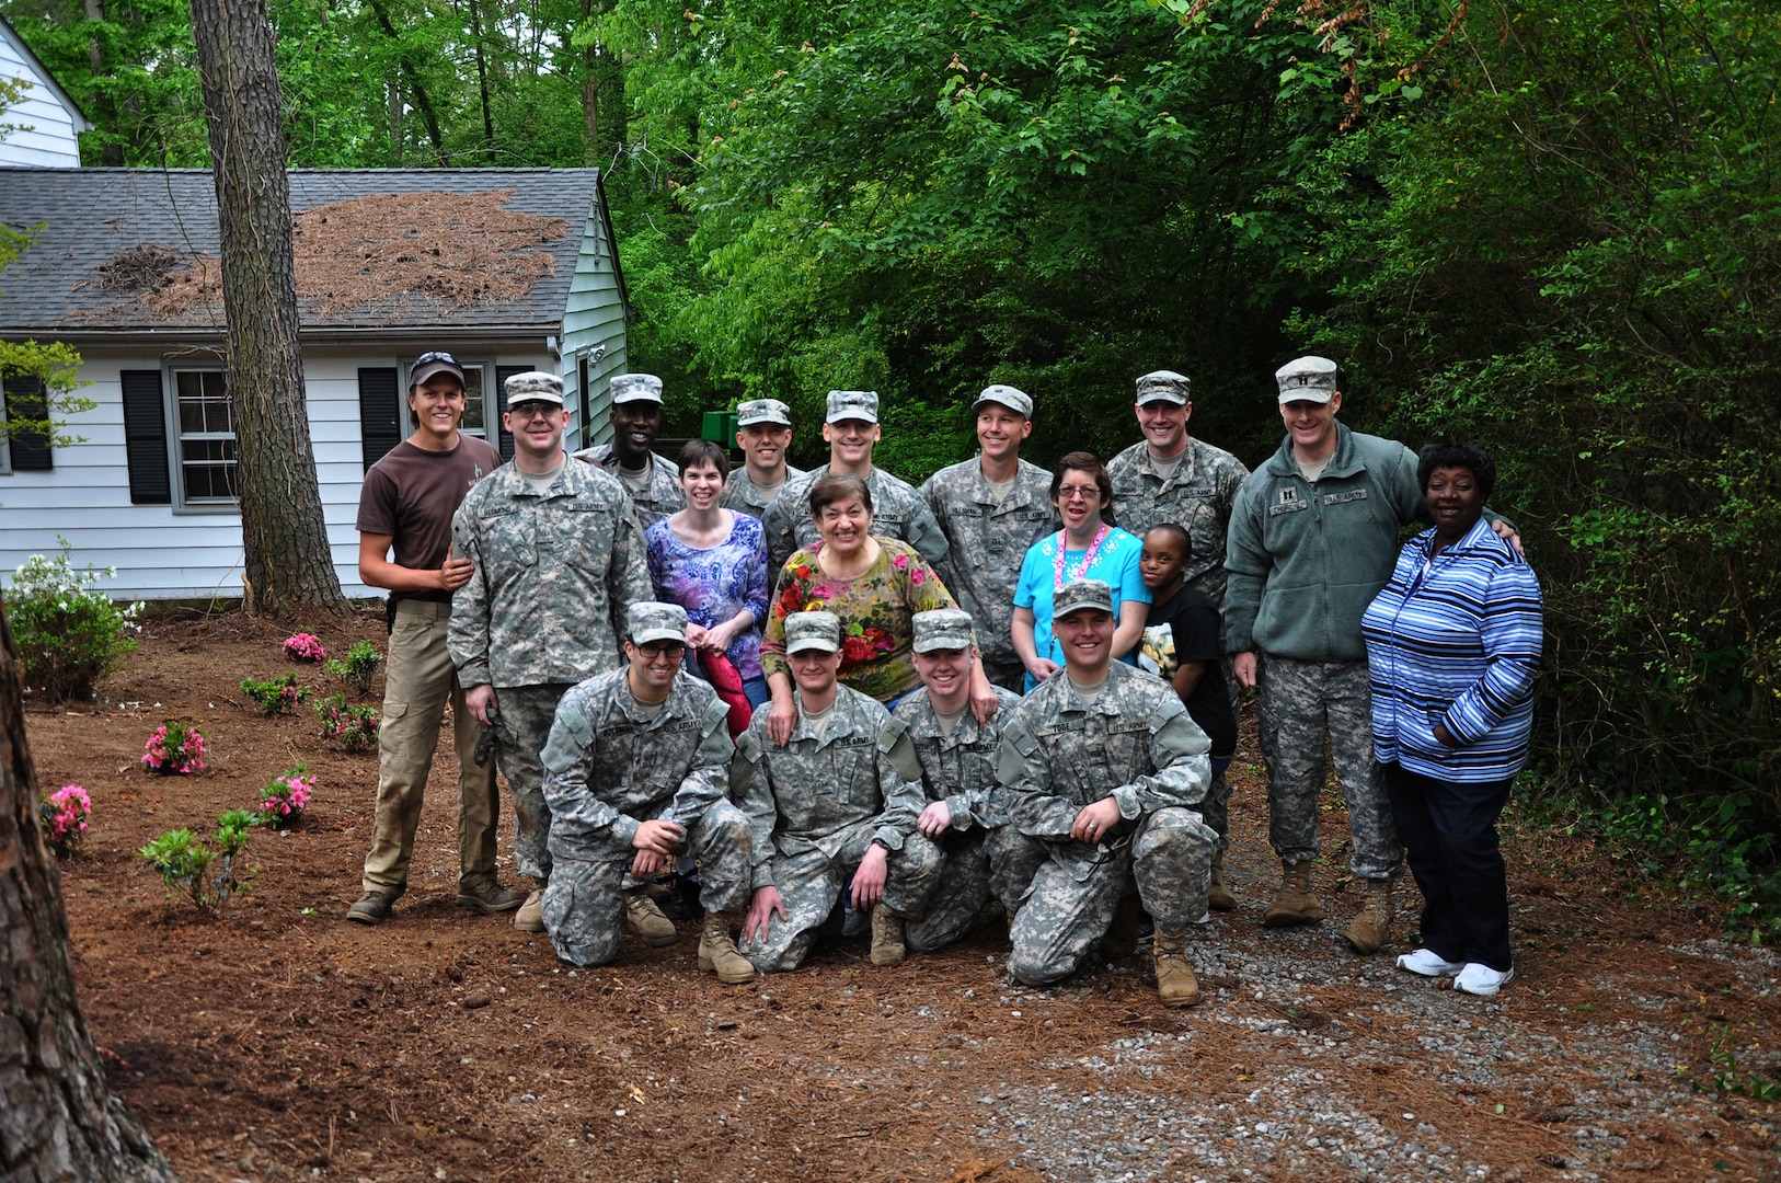
[[983, 672], [1015, 693], [1026, 666], [1013, 650], [1013, 590], [1028, 547], [1063, 524], [1051, 504], [1051, 474], [1021, 460], [1033, 433], [1033, 399], [1013, 387], [988, 387], [972, 403], [980, 454], [940, 469], [921, 495], [946, 534], [940, 579], [978, 622]]

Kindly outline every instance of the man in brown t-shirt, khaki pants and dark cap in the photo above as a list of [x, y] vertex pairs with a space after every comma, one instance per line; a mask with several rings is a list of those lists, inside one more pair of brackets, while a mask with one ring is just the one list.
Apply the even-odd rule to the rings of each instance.
[[378, 730], [378, 820], [365, 855], [363, 894], [346, 918], [376, 925], [408, 887], [422, 793], [433, 770], [445, 704], [458, 750], [458, 903], [511, 912], [525, 900], [495, 878], [500, 796], [495, 761], [476, 763], [476, 727], [445, 650], [452, 592], [468, 583], [470, 559], [451, 554], [451, 518], [463, 495], [500, 467], [500, 453], [461, 435], [463, 369], [449, 353], [424, 353], [408, 387], [415, 433], [365, 474], [358, 501], [358, 577], [390, 592], [383, 725]]

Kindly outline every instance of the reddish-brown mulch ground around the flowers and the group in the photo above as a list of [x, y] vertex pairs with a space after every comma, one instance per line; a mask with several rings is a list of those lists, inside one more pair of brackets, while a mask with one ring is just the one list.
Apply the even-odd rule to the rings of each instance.
[[[329, 652], [362, 636], [383, 643], [381, 615], [315, 631]], [[890, 969], [867, 964], [864, 939], [830, 944], [800, 973], [723, 987], [696, 971], [696, 932], [684, 925], [675, 946], [627, 939], [616, 964], [572, 971], [543, 935], [452, 907], [443, 745], [408, 896], [390, 923], [347, 925], [376, 757], [326, 747], [308, 711], [267, 718], [240, 693], [240, 679], [287, 668], [338, 689], [319, 668], [283, 661], [287, 632], [240, 615], [151, 620], [98, 702], [28, 707], [41, 786], [75, 782], [93, 796], [87, 844], [62, 864], [82, 1007], [114, 1087], [187, 1179], [1013, 1183], [1044, 1178], [1044, 1163], [1013, 1165], [978, 1138], [972, 1103], [985, 1090], [1074, 1087], [1060, 1062], [1134, 1032], [1193, 1028], [1191, 1073], [1133, 1087], [1209, 1106], [1250, 1092], [1281, 1055], [1238, 1024], [1208, 1021], [1218, 1001], [1161, 1008], [1133, 971], [1086, 975], [1013, 1017], [1001, 1001], [1012, 992], [1006, 942], [990, 932]], [[205, 773], [142, 770], [142, 743], [166, 718], [210, 738]], [[1232, 768], [1245, 900], [1234, 942], [1259, 939], [1275, 873], [1252, 720], [1245, 729]], [[255, 834], [255, 891], [216, 918], [166, 900], [135, 850], [162, 830], [214, 828], [217, 812], [249, 807], [297, 761], [317, 775], [317, 800], [301, 828]], [[508, 846], [502, 837], [506, 878], [518, 885]], [[1332, 811], [1332, 866], [1345, 866], [1343, 846], [1345, 818]], [[1713, 1040], [1729, 1032], [1720, 1051], [1740, 1048], [1740, 1071], [1781, 1078], [1769, 1049], [1774, 992], [1713, 959], [1678, 969], [1663, 951], [1715, 937], [1715, 907], [1678, 900], [1558, 828], [1510, 818], [1505, 850], [1510, 889], [1526, 905], [1512, 989], [1548, 991], [1551, 1035], [1564, 1040], [1574, 1014], [1662, 1023], [1683, 1035], [1676, 1071], [1704, 1083], [1724, 1067]], [[1332, 914], [1350, 909], [1338, 896]], [[1400, 939], [1409, 928], [1400, 921]], [[1646, 999], [1639, 1007], [1624, 998], [1628, 982]], [[1229, 1005], [1266, 1010], [1241, 996]], [[1339, 1007], [1332, 998], [1329, 1008]], [[1562, 1062], [1541, 1096], [1507, 1097], [1501, 1114], [1414, 1073], [1322, 1067], [1350, 1073], [1345, 1083], [1378, 1094], [1384, 1108], [1439, 1114], [1469, 1158], [1562, 1178], [1541, 1165], [1558, 1144]], [[1099, 1085], [1085, 1076], [1083, 1089]], [[1777, 1149], [1769, 1110], [1728, 1096], [1712, 1144], [1678, 1133], [1660, 1160], [1630, 1162], [1639, 1174], [1628, 1178], [1767, 1178]]]

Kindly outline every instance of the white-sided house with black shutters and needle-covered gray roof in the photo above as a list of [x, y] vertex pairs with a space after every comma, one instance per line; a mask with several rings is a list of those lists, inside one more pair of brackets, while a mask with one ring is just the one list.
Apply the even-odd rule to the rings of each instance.
[[[310, 436], [335, 570], [358, 581], [365, 469], [408, 433], [413, 360], [449, 349], [467, 429], [500, 438], [508, 374], [563, 374], [577, 445], [606, 442], [627, 296], [598, 169], [294, 169]], [[114, 597], [240, 595], [216, 191], [201, 169], [0, 169], [0, 221], [41, 226], [0, 273], [0, 340], [62, 340], [98, 406], [71, 447], [0, 445], [0, 572], [57, 536]], [[41, 397], [5, 379], [9, 404]], [[25, 415], [21, 408], [16, 412]]]

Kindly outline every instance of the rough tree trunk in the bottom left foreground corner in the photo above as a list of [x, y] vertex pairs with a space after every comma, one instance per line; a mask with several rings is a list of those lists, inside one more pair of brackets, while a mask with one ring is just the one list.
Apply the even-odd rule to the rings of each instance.
[[0, 1178], [173, 1179], [110, 1085], [75, 1001], [62, 877], [37, 825], [23, 677], [0, 604]]

